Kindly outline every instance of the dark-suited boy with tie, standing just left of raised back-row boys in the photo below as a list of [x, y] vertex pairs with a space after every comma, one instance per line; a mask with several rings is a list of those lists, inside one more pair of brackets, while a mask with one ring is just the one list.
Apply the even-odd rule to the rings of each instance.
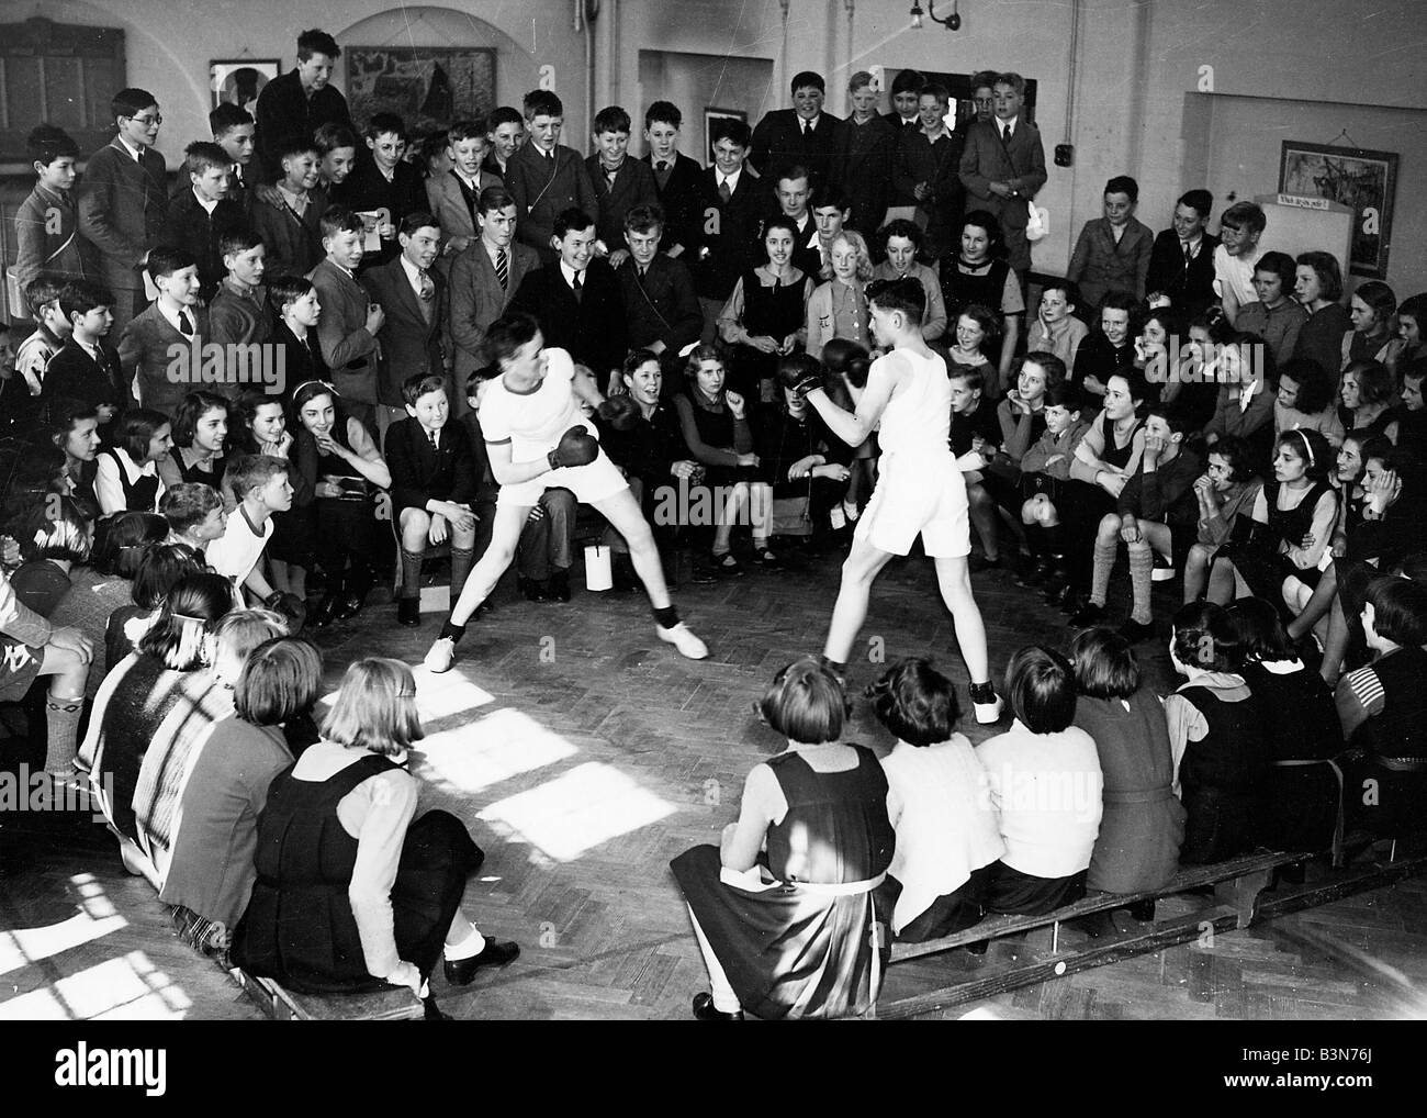
[[745, 271], [762, 261], [756, 237], [768, 187], [743, 167], [752, 137], [742, 120], [712, 127], [714, 166], [699, 176], [699, 224], [694, 233], [694, 287], [704, 311], [702, 341], [718, 334], [718, 316]]

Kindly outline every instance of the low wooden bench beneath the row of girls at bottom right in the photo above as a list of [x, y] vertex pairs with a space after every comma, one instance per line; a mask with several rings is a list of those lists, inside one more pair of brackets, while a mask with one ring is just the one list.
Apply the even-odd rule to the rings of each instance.
[[[1398, 861], [1350, 865], [1346, 870], [1329, 872], [1323, 880], [1299, 885], [1280, 885], [1271, 894], [1263, 895], [1274, 870], [1304, 862], [1313, 857], [1316, 855], [1303, 852], [1250, 854], [1214, 865], [1187, 868], [1162, 890], [1137, 894], [1095, 892], [1045, 915], [989, 917], [966, 931], [940, 940], [923, 944], [893, 944], [892, 965], [895, 967], [969, 944], [1037, 928], [1049, 927], [1052, 930], [1049, 952], [1026, 948], [1003, 964], [982, 964], [980, 960], [972, 962], [963, 957], [959, 972], [948, 965], [945, 975], [938, 977], [939, 982], [943, 978], [946, 981], [932, 989], [915, 989], [905, 997], [895, 997], [896, 991], [889, 989], [889, 987], [906, 987], [906, 984], [892, 982], [889, 974], [882, 994], [883, 998], [888, 994], [893, 994], [893, 997], [880, 1001], [875, 1015], [883, 1019], [916, 1017], [979, 1001], [1093, 967], [1104, 967], [1133, 955], [1152, 954], [1176, 944], [1209, 938], [1217, 932], [1247, 928], [1263, 920], [1329, 904], [1341, 897], [1381, 888], [1401, 878], [1427, 872], [1427, 852], [1414, 851], [1410, 857], [1400, 857]], [[1136, 901], [1173, 897], [1206, 887], [1213, 890], [1213, 898], [1190, 912], [1143, 924], [1130, 931], [1087, 938], [1072, 950], [1063, 951], [1060, 948], [1060, 930], [1066, 921], [1124, 908]]]

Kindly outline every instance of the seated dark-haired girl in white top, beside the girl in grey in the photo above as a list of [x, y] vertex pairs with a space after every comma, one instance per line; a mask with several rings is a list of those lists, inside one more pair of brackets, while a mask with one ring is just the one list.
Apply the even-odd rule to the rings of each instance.
[[1006, 667], [1006, 694], [1016, 721], [976, 748], [1006, 841], [986, 908], [1040, 915], [1085, 897], [1104, 778], [1095, 741], [1073, 725], [1069, 660], [1042, 645], [1019, 650]]

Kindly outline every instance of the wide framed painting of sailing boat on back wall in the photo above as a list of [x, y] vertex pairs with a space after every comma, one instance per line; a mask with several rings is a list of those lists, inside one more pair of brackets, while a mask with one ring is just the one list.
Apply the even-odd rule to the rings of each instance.
[[347, 104], [362, 127], [395, 113], [408, 131], [437, 131], [495, 109], [494, 47], [344, 47]]

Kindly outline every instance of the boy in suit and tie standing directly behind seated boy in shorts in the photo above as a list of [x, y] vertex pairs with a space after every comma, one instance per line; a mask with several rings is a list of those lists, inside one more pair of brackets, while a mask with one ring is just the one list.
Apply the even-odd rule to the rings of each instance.
[[397, 227], [401, 254], [364, 273], [362, 287], [387, 316], [377, 334], [377, 427], [407, 417], [402, 384], [417, 374], [450, 374], [454, 354], [445, 280], [431, 267], [441, 228], [428, 213], [407, 214]]

